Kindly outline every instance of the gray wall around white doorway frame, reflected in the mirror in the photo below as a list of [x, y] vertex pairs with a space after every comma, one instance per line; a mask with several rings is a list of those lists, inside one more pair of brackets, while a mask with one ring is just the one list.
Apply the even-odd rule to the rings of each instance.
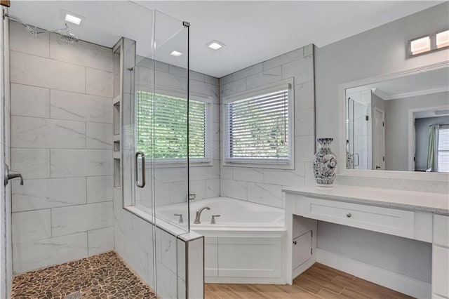
[[408, 170], [408, 110], [440, 105], [449, 106], [448, 92], [385, 101], [385, 168], [387, 170]]

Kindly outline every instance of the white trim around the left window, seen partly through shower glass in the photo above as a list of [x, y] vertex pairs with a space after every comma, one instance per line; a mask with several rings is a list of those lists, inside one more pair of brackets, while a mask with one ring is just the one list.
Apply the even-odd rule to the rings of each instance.
[[[162, 86], [155, 86], [156, 93], [167, 95], [175, 98], [186, 98], [185, 91], [177, 91], [175, 89], [165, 88]], [[152, 93], [152, 91], [145, 91]], [[206, 124], [206, 151], [209, 152], [209, 158], [190, 158], [189, 166], [213, 166], [213, 98], [199, 93], [189, 93], [189, 100], [196, 102], [205, 102], [207, 106], [208, 124]], [[137, 114], [135, 115], [137, 118]], [[135, 136], [138, 140], [138, 136]], [[137, 145], [135, 145], [137, 148]], [[185, 165], [182, 165], [185, 164]], [[187, 167], [187, 159], [149, 159], [145, 157], [145, 166], [154, 168], [168, 168], [168, 167]]]

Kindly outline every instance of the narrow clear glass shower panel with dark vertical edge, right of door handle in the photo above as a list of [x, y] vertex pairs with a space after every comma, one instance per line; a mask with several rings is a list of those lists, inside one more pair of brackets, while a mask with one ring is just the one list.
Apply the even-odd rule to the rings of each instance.
[[189, 231], [188, 26], [155, 12], [153, 160], [156, 223]]

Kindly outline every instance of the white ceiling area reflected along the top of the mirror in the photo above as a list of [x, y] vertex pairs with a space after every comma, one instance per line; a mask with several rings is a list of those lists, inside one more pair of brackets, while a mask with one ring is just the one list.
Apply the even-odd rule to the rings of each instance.
[[372, 90], [375, 95], [383, 100], [395, 100], [417, 95], [448, 92], [449, 69], [448, 67], [442, 67], [441, 69], [435, 69], [430, 72], [421, 72], [376, 84], [349, 88], [347, 89], [347, 93], [367, 90]]

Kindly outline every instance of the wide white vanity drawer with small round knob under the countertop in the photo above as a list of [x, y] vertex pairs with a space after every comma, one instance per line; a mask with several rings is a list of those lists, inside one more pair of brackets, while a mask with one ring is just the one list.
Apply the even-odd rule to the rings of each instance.
[[302, 197], [298, 206], [302, 216], [307, 218], [400, 237], [415, 236], [415, 212], [413, 211], [310, 197]]

